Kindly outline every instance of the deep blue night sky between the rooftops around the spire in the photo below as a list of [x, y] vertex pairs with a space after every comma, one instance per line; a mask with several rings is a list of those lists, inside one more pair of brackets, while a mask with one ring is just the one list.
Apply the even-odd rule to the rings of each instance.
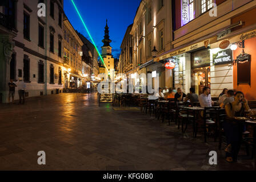
[[[74, 0], [74, 2], [100, 53], [106, 19], [108, 20], [112, 54], [115, 58], [119, 58], [123, 36], [127, 27], [133, 23], [141, 0]], [[70, 0], [64, 0], [64, 11], [74, 29], [90, 40]]]

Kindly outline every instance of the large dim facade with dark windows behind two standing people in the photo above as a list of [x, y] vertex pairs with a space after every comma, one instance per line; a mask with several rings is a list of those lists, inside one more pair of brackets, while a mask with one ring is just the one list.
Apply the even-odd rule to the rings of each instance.
[[[39, 1], [46, 5], [46, 16], [41, 17], [38, 16], [38, 1], [6, 2], [0, 12], [14, 17], [11, 22], [17, 34], [6, 68], [6, 82], [22, 78], [26, 84], [26, 97], [62, 92], [63, 1]], [[3, 102], [7, 101], [5, 96]], [[18, 99], [18, 93], [15, 93], [15, 99]]]

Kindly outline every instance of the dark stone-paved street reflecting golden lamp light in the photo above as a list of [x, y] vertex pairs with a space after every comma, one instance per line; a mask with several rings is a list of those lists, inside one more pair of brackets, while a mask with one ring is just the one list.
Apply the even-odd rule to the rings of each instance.
[[[211, 140], [211, 139], [210, 139]], [[97, 94], [62, 93], [0, 105], [2, 170], [252, 170], [243, 148], [226, 163], [218, 143], [181, 134], [140, 110], [98, 106]], [[209, 151], [218, 165], [208, 164]], [[38, 165], [38, 151], [46, 165]]]

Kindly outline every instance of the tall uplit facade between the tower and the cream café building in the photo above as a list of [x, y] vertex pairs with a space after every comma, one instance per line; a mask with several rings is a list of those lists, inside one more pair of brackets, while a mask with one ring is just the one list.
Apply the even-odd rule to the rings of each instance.
[[[157, 73], [159, 86], [171, 86], [171, 71], [165, 69], [163, 63], [153, 61], [154, 47], [158, 55], [170, 49], [171, 33], [171, 1], [141, 1], [134, 18], [133, 25], [127, 28], [121, 45], [121, 69], [123, 73], [136, 77], [141, 73]], [[127, 32], [130, 31], [130, 35]], [[154, 78], [153, 87], [154, 87]], [[142, 85], [142, 80], [139, 80]]]

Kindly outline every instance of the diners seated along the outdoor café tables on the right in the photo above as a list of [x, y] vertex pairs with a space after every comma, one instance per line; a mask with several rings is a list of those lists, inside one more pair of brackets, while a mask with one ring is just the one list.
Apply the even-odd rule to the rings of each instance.
[[[211, 107], [214, 102], [211, 100], [210, 88], [205, 86], [202, 90], [202, 94], [198, 96], [195, 93], [194, 88], [190, 88], [190, 92], [185, 94], [181, 88], [167, 89], [163, 91], [159, 88], [159, 92], [155, 95], [159, 98], [174, 98], [177, 102], [199, 102], [201, 107]], [[219, 95], [219, 107], [225, 109], [226, 119], [223, 122], [223, 129], [225, 131], [227, 147], [226, 161], [236, 162], [238, 152], [242, 143], [242, 134], [245, 134], [246, 126], [237, 121], [237, 117], [246, 117], [247, 115], [255, 115], [251, 111], [245, 95], [240, 91], [223, 89]]]

